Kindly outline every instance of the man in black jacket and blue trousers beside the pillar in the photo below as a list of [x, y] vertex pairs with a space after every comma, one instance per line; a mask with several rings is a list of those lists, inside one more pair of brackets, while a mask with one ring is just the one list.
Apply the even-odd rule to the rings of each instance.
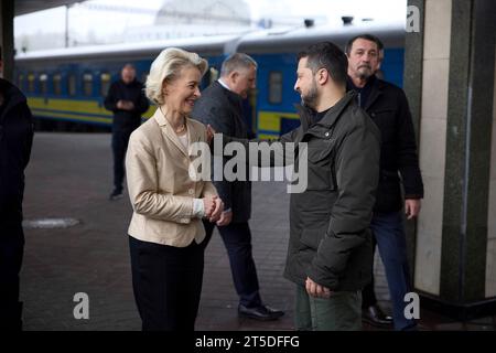
[[[408, 220], [419, 214], [423, 184], [407, 97], [401, 88], [375, 75], [380, 67], [382, 50], [382, 43], [374, 35], [363, 34], [349, 40], [346, 45], [348, 89], [358, 93], [358, 104], [381, 132], [379, 188], [370, 226], [385, 265], [395, 329], [409, 330], [416, 328], [416, 322], [403, 314], [405, 295], [410, 291], [410, 275], [401, 214], [401, 184]], [[366, 321], [373, 324], [390, 323], [391, 318], [377, 304], [374, 281], [364, 289], [363, 299]]]

